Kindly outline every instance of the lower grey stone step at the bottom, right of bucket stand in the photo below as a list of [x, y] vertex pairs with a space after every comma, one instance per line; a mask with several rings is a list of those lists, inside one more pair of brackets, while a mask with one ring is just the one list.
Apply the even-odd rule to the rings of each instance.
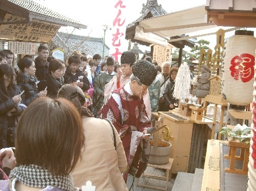
[[178, 172], [178, 175], [173, 184], [172, 191], [185, 191], [191, 190], [192, 182], [194, 180], [194, 175], [187, 172]]

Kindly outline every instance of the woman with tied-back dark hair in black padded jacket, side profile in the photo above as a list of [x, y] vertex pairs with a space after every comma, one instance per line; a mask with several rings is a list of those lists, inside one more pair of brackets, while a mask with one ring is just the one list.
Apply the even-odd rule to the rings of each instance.
[[35, 62], [30, 58], [21, 58], [18, 67], [21, 71], [16, 76], [17, 85], [21, 92], [25, 91], [21, 95], [21, 103], [28, 106], [34, 99], [46, 96], [47, 91], [43, 90], [37, 93]]

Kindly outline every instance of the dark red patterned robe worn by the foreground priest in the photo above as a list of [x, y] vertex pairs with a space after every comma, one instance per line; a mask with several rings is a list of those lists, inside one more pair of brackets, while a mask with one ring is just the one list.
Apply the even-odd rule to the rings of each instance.
[[[98, 114], [101, 115], [101, 118], [108, 118], [113, 123], [113, 126], [115, 126], [120, 135], [128, 163], [127, 172], [123, 176], [124, 181], [126, 181], [131, 166], [134, 165], [135, 168], [138, 168], [139, 166], [136, 177], [140, 177], [140, 175], [146, 169], [149, 153], [145, 154], [143, 150], [150, 149], [149, 141], [143, 140], [143, 148], [141, 148], [141, 150], [138, 149], [136, 151], [136, 148], [134, 148], [136, 151], [135, 156], [130, 155], [130, 142], [132, 139], [132, 130], [143, 132], [143, 130], [149, 129], [150, 119], [147, 116], [143, 99], [139, 99], [139, 97], [136, 96], [130, 96], [130, 94], [125, 91], [123, 87], [116, 89], [113, 91], [113, 93], [117, 93], [121, 98], [123, 121], [118, 104], [112, 96], [106, 100], [103, 108], [101, 108]], [[136, 141], [140, 142], [140, 139], [138, 138]], [[143, 162], [140, 161], [140, 164], [138, 165], [139, 158]], [[137, 162], [137, 164], [132, 164], [133, 159]]]

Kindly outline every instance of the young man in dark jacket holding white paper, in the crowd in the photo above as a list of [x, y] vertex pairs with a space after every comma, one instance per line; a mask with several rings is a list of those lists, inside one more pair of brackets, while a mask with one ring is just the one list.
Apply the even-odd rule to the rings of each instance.
[[78, 67], [80, 63], [81, 59], [79, 56], [69, 57], [69, 68], [66, 69], [64, 74], [64, 83], [72, 83], [73, 85], [81, 87], [83, 91], [87, 91], [90, 87], [90, 83], [83, 71], [79, 70]]

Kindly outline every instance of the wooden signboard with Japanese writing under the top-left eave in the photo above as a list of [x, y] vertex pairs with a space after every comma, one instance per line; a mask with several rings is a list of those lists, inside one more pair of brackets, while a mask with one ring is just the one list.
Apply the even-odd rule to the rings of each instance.
[[[21, 17], [7, 14], [4, 21], [18, 21]], [[0, 25], [0, 39], [48, 42], [58, 32], [60, 25], [33, 20], [23, 24]]]

